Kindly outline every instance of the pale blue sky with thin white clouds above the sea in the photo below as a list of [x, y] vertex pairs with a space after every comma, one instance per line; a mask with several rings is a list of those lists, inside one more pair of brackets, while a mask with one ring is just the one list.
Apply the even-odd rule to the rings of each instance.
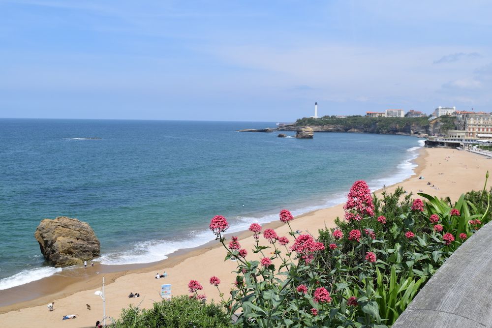
[[0, 0], [0, 118], [492, 111], [492, 1]]

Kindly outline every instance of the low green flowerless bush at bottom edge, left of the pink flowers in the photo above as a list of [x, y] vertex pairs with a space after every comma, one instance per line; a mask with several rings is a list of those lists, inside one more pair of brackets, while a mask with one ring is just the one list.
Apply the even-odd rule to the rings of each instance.
[[123, 309], [116, 328], [164, 328], [164, 327], [231, 327], [230, 316], [220, 305], [204, 304], [203, 301], [187, 296], [155, 302], [151, 309], [140, 310], [130, 305]]

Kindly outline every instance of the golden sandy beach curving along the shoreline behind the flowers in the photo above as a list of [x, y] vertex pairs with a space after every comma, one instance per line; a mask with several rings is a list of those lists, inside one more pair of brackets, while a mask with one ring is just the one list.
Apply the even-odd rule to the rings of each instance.
[[[456, 149], [421, 149], [420, 156], [415, 161], [418, 164], [415, 174], [405, 181], [387, 187], [388, 191], [402, 186], [406, 191], [413, 192], [416, 197], [417, 192], [422, 190], [438, 197], [449, 196], [452, 201], [456, 201], [466, 191], [481, 190], [486, 171], [492, 169], [492, 160]], [[361, 167], [361, 170], [363, 169]], [[421, 176], [424, 179], [419, 179]], [[428, 185], [428, 182], [431, 182], [431, 185]], [[317, 235], [318, 229], [325, 226], [333, 227], [334, 219], [343, 216], [342, 206], [300, 215], [291, 221], [291, 226], [294, 230]], [[288, 206], [286, 208], [288, 209]], [[288, 226], [281, 222], [272, 222], [263, 227], [275, 228], [279, 236], [288, 236]], [[246, 258], [251, 259], [255, 255], [250, 251], [254, 242], [251, 233], [243, 232], [239, 236], [241, 245], [249, 252]], [[291, 237], [290, 239], [292, 240]], [[263, 244], [264, 241], [261, 240]], [[93, 327], [95, 322], [102, 318], [102, 299], [94, 295], [94, 291], [100, 289], [102, 276], [106, 280], [106, 315], [114, 318], [118, 318], [121, 309], [129, 304], [151, 307], [154, 301], [161, 299], [161, 284], [172, 284], [173, 295], [187, 295], [188, 281], [196, 279], [203, 285], [203, 294], [206, 294], [209, 300], [218, 300], [218, 292], [209, 284], [209, 278], [213, 275], [219, 277], [219, 287], [227, 296], [235, 277], [232, 271], [236, 269], [236, 262], [224, 262], [225, 255], [225, 249], [215, 241], [191, 251], [175, 254], [145, 268], [95, 274], [98, 270], [98, 266], [95, 266], [87, 269], [92, 271], [87, 272], [87, 278], [84, 279], [64, 279], [63, 282], [60, 282], [57, 276], [43, 279], [38, 285], [42, 284], [44, 287], [38, 287], [34, 292], [36, 296], [39, 295], [38, 298], [0, 307], [0, 326]], [[156, 272], [163, 271], [168, 273], [166, 278], [154, 278]], [[55, 290], [56, 293], [50, 293], [50, 290]], [[9, 293], [13, 295], [21, 291], [29, 293], [26, 287], [22, 286], [0, 293], [2, 298], [8, 298]], [[140, 298], [128, 298], [130, 292], [138, 292]], [[51, 301], [55, 301], [55, 310], [52, 312], [48, 311], [46, 306]], [[87, 309], [86, 304], [91, 305], [91, 310]], [[62, 317], [69, 314], [75, 314], [77, 318], [62, 321]]]

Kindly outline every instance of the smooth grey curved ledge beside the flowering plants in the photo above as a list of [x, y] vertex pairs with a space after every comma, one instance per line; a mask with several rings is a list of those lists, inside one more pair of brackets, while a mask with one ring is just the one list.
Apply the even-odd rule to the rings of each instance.
[[492, 328], [492, 222], [431, 277], [394, 328]]

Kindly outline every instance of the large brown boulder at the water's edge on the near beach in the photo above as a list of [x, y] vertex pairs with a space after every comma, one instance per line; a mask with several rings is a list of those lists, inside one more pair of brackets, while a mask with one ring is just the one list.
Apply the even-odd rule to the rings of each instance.
[[42, 220], [34, 237], [44, 258], [56, 267], [92, 260], [101, 249], [88, 223], [66, 216]]

